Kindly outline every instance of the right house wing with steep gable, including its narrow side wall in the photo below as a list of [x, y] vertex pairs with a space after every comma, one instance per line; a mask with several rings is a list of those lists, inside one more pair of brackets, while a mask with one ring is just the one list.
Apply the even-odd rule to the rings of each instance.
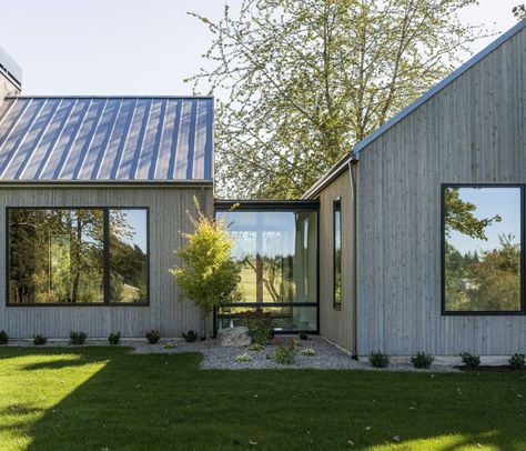
[[320, 332], [357, 355], [525, 352], [525, 183], [523, 20], [305, 193]]

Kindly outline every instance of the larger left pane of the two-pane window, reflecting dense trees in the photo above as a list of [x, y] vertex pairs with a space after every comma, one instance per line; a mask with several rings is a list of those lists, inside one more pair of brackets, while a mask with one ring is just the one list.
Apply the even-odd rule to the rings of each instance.
[[9, 302], [103, 302], [103, 211], [9, 210]]

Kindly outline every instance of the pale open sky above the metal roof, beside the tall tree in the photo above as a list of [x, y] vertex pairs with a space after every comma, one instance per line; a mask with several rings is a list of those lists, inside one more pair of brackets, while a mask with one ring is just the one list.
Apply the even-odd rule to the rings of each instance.
[[[227, 0], [235, 10], [241, 0]], [[463, 20], [505, 31], [519, 0], [481, 0]], [[186, 11], [221, 17], [223, 0], [0, 0], [0, 47], [26, 94], [189, 94], [211, 36]], [[481, 50], [489, 40], [478, 42]]]

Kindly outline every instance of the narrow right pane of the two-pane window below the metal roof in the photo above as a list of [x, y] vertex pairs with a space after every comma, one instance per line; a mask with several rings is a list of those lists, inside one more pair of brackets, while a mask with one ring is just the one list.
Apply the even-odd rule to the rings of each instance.
[[146, 302], [146, 211], [110, 210], [111, 302]]

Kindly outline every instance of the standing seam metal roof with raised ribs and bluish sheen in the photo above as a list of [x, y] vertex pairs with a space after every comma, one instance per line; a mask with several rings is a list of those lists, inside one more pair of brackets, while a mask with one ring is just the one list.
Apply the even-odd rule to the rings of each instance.
[[0, 182], [212, 181], [213, 98], [11, 97]]

